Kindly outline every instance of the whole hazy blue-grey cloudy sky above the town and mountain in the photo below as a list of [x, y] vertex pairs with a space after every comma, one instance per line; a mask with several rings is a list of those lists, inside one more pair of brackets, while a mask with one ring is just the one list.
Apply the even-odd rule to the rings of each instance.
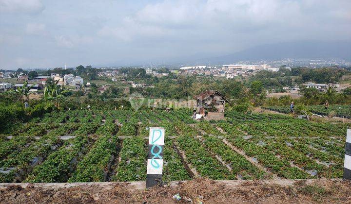
[[0, 0], [0, 69], [161, 64], [351, 41], [351, 0]]

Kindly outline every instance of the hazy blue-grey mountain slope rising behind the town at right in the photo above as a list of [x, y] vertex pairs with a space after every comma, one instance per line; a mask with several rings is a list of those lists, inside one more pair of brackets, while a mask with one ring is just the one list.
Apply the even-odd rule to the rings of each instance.
[[351, 61], [351, 42], [299, 41], [260, 45], [233, 54], [196, 60], [208, 63], [233, 63], [246, 60], [279, 60], [284, 58], [336, 58]]

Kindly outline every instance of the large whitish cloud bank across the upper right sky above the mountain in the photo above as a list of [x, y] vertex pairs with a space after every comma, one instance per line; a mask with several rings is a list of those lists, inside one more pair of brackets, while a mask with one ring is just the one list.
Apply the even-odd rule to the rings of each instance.
[[[98, 35], [128, 42], [158, 38], [159, 42], [172, 39], [193, 44], [323, 39], [330, 37], [331, 31], [318, 30], [350, 24], [347, 8], [351, 8], [351, 3], [342, 2], [344, 7], [327, 0], [156, 1], [124, 17], [117, 25], [105, 25]], [[330, 8], [328, 13], [332, 15], [326, 17], [325, 8]]]

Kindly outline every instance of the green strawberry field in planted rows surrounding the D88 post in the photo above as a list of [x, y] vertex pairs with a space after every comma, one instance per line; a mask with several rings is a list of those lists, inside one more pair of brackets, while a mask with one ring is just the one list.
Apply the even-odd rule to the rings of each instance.
[[70, 110], [0, 133], [0, 182], [146, 180], [148, 128], [165, 128], [163, 180], [342, 178], [346, 129], [274, 114]]

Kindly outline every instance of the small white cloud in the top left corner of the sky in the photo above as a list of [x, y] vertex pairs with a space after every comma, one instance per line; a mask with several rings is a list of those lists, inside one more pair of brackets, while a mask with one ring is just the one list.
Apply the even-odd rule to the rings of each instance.
[[1, 12], [34, 14], [44, 9], [40, 0], [0, 0]]

